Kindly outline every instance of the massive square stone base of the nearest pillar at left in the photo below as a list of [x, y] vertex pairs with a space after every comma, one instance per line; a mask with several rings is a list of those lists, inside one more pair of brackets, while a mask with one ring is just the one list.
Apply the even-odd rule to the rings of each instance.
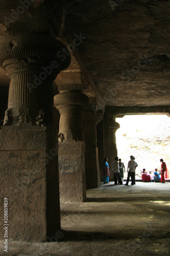
[[[50, 138], [54, 134], [45, 126], [2, 127], [0, 207], [8, 198], [8, 239], [46, 241], [60, 229], [57, 149]], [[4, 214], [0, 219], [5, 224]]]

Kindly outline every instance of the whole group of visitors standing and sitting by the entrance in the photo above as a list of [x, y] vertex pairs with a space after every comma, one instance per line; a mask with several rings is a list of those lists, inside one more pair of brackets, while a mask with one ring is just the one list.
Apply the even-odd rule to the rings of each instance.
[[[131, 160], [128, 162], [128, 168], [127, 168], [127, 172], [128, 172], [127, 182], [126, 184], [124, 184], [126, 186], [128, 186], [130, 177], [131, 177], [131, 185], [135, 185], [135, 170], [136, 170], [136, 167], [138, 166], [134, 156], [130, 156], [130, 159]], [[102, 174], [103, 174], [104, 184], [109, 183], [109, 177], [110, 177], [109, 164], [107, 161], [108, 161], [108, 158], [105, 158], [103, 162]], [[158, 173], [158, 169], [156, 168], [153, 174], [153, 177], [152, 177], [152, 172], [149, 172], [149, 174], [147, 174], [145, 169], [142, 170], [141, 172], [142, 181], [149, 182], [151, 181], [151, 178], [153, 178], [155, 182], [165, 183], [165, 178], [168, 178], [168, 171], [167, 171], [166, 163], [163, 161], [162, 158], [160, 159], [160, 162], [161, 162], [160, 172]], [[122, 162], [122, 159], [115, 157], [113, 162], [113, 174], [114, 174], [115, 185], [118, 183], [119, 185], [123, 185], [124, 172], [126, 172], [126, 170], [125, 170], [125, 165]]]

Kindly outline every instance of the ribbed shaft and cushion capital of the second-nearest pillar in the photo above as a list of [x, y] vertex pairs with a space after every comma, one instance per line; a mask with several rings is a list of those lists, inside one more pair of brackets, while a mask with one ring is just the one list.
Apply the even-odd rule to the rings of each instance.
[[60, 112], [59, 137], [60, 140], [74, 139], [83, 141], [82, 116], [84, 105], [88, 104], [88, 97], [81, 91], [67, 91], [55, 95], [54, 106]]

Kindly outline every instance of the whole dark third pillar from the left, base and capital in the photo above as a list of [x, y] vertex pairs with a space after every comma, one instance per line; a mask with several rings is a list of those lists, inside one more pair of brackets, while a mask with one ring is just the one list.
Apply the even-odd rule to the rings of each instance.
[[82, 113], [84, 141], [86, 145], [86, 188], [97, 188], [101, 186], [96, 125], [102, 120], [102, 116], [103, 112], [94, 114], [92, 110], [84, 110]]

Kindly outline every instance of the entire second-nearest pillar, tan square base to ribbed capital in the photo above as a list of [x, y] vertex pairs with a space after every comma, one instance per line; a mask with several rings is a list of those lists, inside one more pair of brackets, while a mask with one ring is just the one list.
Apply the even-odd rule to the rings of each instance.
[[60, 112], [60, 200], [83, 202], [86, 199], [86, 185], [81, 112], [83, 105], [88, 103], [88, 97], [80, 90], [70, 90], [69, 87], [58, 89], [60, 94], [55, 95], [54, 105]]

